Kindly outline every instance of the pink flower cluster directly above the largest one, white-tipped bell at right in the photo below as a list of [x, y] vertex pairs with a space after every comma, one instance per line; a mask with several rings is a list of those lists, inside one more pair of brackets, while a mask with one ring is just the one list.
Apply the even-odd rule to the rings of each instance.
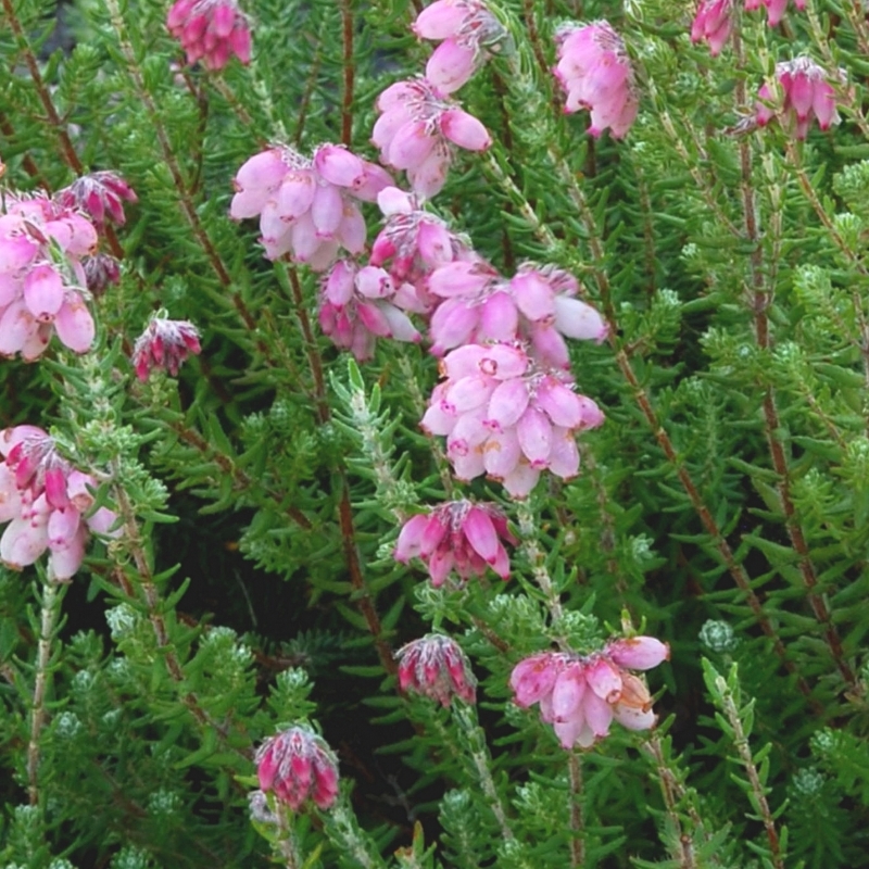
[[526, 263], [507, 280], [488, 263], [466, 257], [436, 268], [427, 287], [443, 300], [431, 317], [436, 356], [468, 342], [525, 340], [541, 362], [568, 368], [564, 337], [600, 342], [607, 336], [601, 315], [574, 298], [576, 278], [553, 266]]

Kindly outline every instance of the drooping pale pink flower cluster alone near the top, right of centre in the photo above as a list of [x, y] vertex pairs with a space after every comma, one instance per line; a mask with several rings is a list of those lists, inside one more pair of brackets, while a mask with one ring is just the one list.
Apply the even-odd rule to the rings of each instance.
[[565, 112], [589, 109], [592, 136], [609, 127], [616, 139], [622, 138], [637, 117], [639, 102], [621, 37], [608, 22], [596, 21], [561, 28], [556, 42], [555, 77], [567, 93]]

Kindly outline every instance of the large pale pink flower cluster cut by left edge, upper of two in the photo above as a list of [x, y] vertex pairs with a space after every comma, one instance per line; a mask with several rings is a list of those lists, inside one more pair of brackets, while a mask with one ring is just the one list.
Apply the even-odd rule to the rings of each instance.
[[84, 216], [45, 197], [7, 194], [0, 214], [0, 355], [36, 360], [56, 331], [76, 353], [93, 343], [81, 257], [97, 247]]

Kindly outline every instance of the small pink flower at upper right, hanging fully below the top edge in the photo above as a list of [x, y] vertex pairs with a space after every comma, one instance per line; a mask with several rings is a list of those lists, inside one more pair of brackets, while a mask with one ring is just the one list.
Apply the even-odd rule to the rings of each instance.
[[[810, 58], [801, 56], [776, 64], [776, 78], [781, 88], [781, 103], [778, 108], [770, 108], [763, 102], [756, 104], [755, 119], [759, 126], [766, 126], [776, 117], [788, 133], [797, 139], [805, 139], [813, 117], [824, 130], [839, 123], [835, 90], [830, 81], [843, 84], [844, 72], [828, 75]], [[778, 102], [778, 97], [768, 85], [760, 88], [758, 97], [768, 102]]]

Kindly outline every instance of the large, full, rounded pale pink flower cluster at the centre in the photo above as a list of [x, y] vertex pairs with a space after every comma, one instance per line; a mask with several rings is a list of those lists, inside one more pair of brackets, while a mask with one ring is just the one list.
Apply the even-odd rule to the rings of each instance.
[[543, 469], [569, 479], [579, 470], [575, 432], [604, 416], [561, 369], [542, 366], [522, 344], [466, 344], [448, 354], [421, 426], [446, 436], [461, 480], [488, 474], [525, 498]]

